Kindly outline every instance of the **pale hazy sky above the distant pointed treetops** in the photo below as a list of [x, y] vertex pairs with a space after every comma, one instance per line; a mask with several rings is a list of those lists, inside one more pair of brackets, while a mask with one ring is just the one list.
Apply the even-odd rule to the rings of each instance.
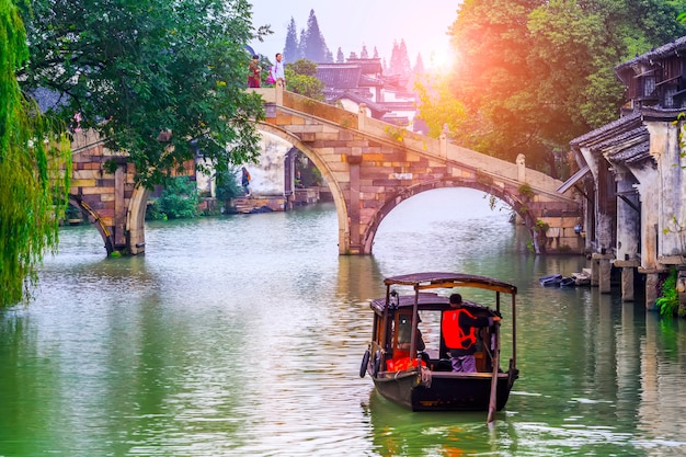
[[264, 43], [252, 42], [258, 54], [274, 60], [283, 52], [290, 18], [298, 37], [315, 10], [319, 28], [335, 59], [339, 47], [347, 58], [358, 56], [363, 44], [369, 56], [376, 46], [379, 57], [390, 62], [393, 41], [404, 39], [410, 64], [422, 55], [427, 68], [447, 68], [450, 58], [448, 27], [457, 19], [460, 0], [252, 0], [253, 25], [270, 24], [274, 34]]

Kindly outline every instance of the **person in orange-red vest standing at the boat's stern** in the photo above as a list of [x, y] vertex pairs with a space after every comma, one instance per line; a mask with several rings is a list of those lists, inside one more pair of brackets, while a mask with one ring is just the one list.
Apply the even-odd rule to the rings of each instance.
[[445, 345], [450, 353], [453, 372], [476, 373], [477, 329], [491, 327], [500, 317], [476, 317], [462, 307], [462, 296], [450, 295], [450, 310], [443, 312], [441, 329]]

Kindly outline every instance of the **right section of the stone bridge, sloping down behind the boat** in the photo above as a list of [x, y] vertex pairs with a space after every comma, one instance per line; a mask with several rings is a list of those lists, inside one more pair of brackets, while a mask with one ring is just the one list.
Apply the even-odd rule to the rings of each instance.
[[[267, 91], [270, 89], [266, 89]], [[274, 89], [272, 89], [274, 90]], [[276, 89], [278, 91], [278, 89]], [[277, 100], [271, 96], [270, 100]], [[267, 115], [318, 165], [339, 202], [341, 253], [370, 253], [374, 233], [402, 199], [441, 186], [469, 186], [508, 204], [537, 252], [579, 252], [581, 207], [545, 173], [291, 93]], [[339, 197], [336, 198], [336, 192]]]

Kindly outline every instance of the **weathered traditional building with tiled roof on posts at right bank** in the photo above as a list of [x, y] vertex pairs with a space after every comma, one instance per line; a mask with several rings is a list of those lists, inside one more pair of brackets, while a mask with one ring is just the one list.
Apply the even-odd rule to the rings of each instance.
[[672, 269], [681, 293], [686, 281], [686, 37], [615, 72], [627, 85], [621, 116], [571, 142], [580, 170], [559, 191], [576, 186], [585, 196], [580, 230], [601, 292], [619, 269], [622, 299], [633, 300], [634, 285], [644, 284], [652, 308]]

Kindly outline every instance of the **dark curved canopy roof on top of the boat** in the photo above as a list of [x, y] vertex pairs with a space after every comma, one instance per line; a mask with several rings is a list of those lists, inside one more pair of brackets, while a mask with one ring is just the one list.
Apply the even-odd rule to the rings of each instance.
[[386, 284], [387, 286], [412, 286], [418, 292], [439, 287], [477, 287], [512, 295], [515, 295], [517, 293], [517, 286], [514, 286], [512, 284], [504, 283], [492, 277], [476, 276], [461, 273], [410, 273], [399, 276], [387, 277], [386, 279], [384, 279], [384, 284]]

